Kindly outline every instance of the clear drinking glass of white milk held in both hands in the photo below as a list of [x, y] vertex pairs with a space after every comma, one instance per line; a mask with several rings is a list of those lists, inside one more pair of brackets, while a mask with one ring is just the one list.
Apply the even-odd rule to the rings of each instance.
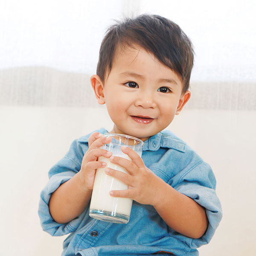
[[[103, 149], [113, 152], [113, 156], [123, 157], [131, 160], [126, 154], [122, 153], [121, 146], [132, 148], [141, 157], [143, 141], [135, 137], [124, 134], [105, 134], [112, 137], [111, 143], [102, 146]], [[107, 167], [128, 173], [124, 168], [113, 164], [109, 158], [99, 157], [99, 161], [107, 163]], [[90, 202], [89, 215], [102, 221], [114, 223], [128, 223], [131, 213], [131, 198], [115, 198], [109, 195], [111, 190], [128, 189], [128, 185], [116, 178], [105, 174], [105, 168], [98, 168], [93, 185], [93, 193]]]

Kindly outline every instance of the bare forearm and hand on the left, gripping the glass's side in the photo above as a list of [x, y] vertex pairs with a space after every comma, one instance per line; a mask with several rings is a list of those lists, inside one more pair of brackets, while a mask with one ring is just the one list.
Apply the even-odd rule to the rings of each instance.
[[98, 162], [99, 156], [110, 157], [111, 153], [101, 149], [105, 143], [109, 143], [111, 137], [94, 133], [89, 138], [89, 149], [83, 157], [81, 170], [70, 180], [61, 184], [52, 193], [49, 201], [49, 211], [52, 218], [58, 223], [67, 223], [83, 212], [90, 201], [95, 172], [105, 163]]

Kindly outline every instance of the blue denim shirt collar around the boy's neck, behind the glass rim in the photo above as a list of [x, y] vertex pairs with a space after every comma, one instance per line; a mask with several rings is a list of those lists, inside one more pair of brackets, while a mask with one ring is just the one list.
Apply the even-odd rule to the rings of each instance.
[[[108, 131], [105, 128], [100, 128], [97, 132], [101, 134], [106, 134]], [[78, 142], [88, 143], [88, 139], [92, 133], [81, 137]], [[161, 131], [158, 134], [150, 137], [148, 140], [144, 141], [143, 151], [157, 151], [159, 148], [172, 148], [180, 152], [185, 152], [186, 143], [180, 140], [171, 131]]]

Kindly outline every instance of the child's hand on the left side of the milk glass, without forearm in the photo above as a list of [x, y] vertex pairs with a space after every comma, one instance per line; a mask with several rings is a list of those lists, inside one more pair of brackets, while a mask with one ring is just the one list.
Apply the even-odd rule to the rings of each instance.
[[89, 148], [84, 154], [81, 169], [78, 173], [81, 187], [85, 190], [92, 190], [94, 177], [97, 168], [103, 168], [106, 166], [105, 162], [99, 162], [98, 157], [111, 157], [112, 152], [109, 152], [101, 147], [110, 143], [111, 137], [105, 137], [99, 132], [95, 132], [90, 135], [88, 140]]

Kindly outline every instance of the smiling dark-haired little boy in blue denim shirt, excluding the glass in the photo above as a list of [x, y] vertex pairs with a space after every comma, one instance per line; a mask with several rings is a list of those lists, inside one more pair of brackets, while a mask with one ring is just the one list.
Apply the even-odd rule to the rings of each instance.
[[[143, 154], [124, 148], [131, 161], [111, 157], [101, 149], [111, 140], [101, 128], [75, 140], [52, 167], [39, 215], [52, 236], [70, 233], [63, 256], [194, 256], [209, 243], [222, 216], [215, 177], [186, 143], [163, 131], [189, 100], [192, 66], [189, 38], [166, 18], [140, 15], [108, 29], [91, 84], [114, 123], [111, 133], [140, 138]], [[88, 215], [96, 169], [105, 166], [99, 156], [128, 171], [106, 169], [128, 184], [110, 192], [134, 200], [128, 224]]]

